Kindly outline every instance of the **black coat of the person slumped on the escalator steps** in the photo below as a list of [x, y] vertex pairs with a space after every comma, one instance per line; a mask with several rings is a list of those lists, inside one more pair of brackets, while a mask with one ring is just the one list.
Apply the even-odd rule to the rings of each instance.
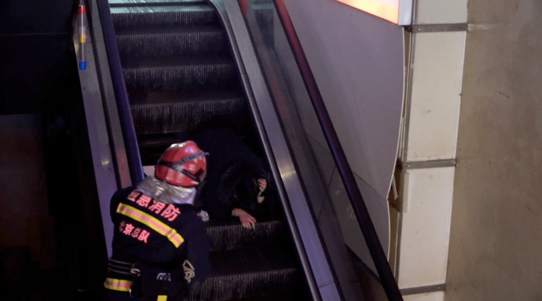
[[177, 135], [181, 140], [192, 140], [207, 157], [207, 176], [205, 176], [199, 200], [205, 211], [218, 217], [229, 217], [234, 208], [242, 208], [251, 213], [264, 211], [268, 207], [257, 204], [259, 192], [257, 179], [267, 180], [266, 194], [270, 191], [270, 177], [266, 165], [241, 137], [229, 128], [213, 128], [195, 133]]

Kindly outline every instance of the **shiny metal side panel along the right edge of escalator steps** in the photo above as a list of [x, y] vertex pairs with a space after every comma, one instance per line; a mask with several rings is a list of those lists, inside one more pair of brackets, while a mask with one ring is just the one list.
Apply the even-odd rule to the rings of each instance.
[[[340, 300], [337, 287], [334, 287], [334, 279], [322, 247], [314, 219], [307, 205], [307, 199], [296, 175], [294, 163], [291, 158], [286, 139], [278, 120], [274, 114], [272, 99], [259, 68], [259, 62], [251, 44], [250, 35], [242, 12], [237, 3], [224, 2], [231, 28], [235, 36], [238, 49], [236, 54], [238, 63], [246, 68], [246, 87], [251, 89], [254, 98], [251, 99], [253, 113], [257, 118], [257, 125], [262, 137], [266, 137], [269, 144], [264, 143], [266, 155], [272, 164], [273, 175], [277, 182], [282, 182], [284, 191], [280, 191], [283, 206], [291, 206], [292, 211], [287, 211], [287, 221], [294, 231], [294, 240], [301, 262], [309, 279], [314, 277], [314, 283], [309, 281], [309, 287], [315, 300], [326, 296], [327, 300]], [[253, 67], [253, 68], [248, 68]], [[248, 86], [250, 82], [250, 86]], [[259, 112], [264, 112], [260, 114]], [[287, 204], [287, 200], [289, 204]], [[295, 231], [297, 229], [297, 231]], [[299, 231], [299, 232], [298, 232]], [[298, 233], [295, 233], [298, 232]], [[303, 256], [303, 254], [306, 254]], [[324, 294], [324, 291], [326, 292]]]

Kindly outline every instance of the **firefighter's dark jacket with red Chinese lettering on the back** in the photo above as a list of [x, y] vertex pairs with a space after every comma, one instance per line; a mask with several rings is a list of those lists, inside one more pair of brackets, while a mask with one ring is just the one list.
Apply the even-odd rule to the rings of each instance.
[[[137, 290], [154, 290], [160, 286], [153, 283], [156, 279], [177, 281], [180, 284], [176, 284], [178, 291], [173, 295], [178, 293], [178, 298], [182, 298], [210, 273], [210, 239], [191, 205], [165, 204], [132, 186], [113, 195], [111, 218], [115, 224], [112, 259], [140, 263], [141, 276], [133, 284], [140, 283]], [[133, 276], [109, 271], [105, 286], [115, 293], [126, 292], [126, 281], [132, 279]]]

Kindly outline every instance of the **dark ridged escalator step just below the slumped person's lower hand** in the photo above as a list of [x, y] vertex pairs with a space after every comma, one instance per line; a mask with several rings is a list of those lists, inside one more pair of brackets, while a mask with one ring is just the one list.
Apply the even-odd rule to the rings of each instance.
[[211, 237], [211, 251], [233, 250], [265, 245], [279, 245], [287, 231], [283, 221], [263, 221], [256, 223], [254, 230], [241, 224], [215, 225], [207, 228]]

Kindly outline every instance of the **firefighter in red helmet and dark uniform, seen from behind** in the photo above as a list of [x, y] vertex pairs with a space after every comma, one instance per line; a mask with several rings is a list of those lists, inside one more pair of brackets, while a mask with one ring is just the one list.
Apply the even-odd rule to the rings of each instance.
[[210, 239], [193, 211], [205, 155], [193, 141], [173, 144], [154, 174], [115, 192], [106, 300], [182, 300], [208, 276]]

